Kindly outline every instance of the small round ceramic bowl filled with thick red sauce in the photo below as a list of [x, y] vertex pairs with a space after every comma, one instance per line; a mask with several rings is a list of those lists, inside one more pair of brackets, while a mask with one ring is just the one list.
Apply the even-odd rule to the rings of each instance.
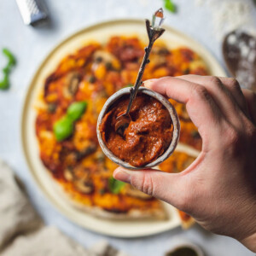
[[113, 133], [111, 124], [116, 120], [115, 113], [127, 108], [129, 95], [130, 88], [119, 90], [108, 98], [99, 114], [96, 132], [102, 151], [126, 169], [158, 166], [177, 146], [180, 125], [176, 110], [164, 96], [141, 87], [138, 102], [131, 108], [133, 119], [121, 136]]

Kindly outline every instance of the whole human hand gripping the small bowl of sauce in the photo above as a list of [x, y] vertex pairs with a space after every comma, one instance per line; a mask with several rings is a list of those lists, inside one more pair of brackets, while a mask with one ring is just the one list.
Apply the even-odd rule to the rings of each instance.
[[180, 173], [119, 167], [113, 177], [256, 253], [256, 95], [227, 78], [187, 75], [144, 84], [186, 104], [202, 137], [201, 154]]

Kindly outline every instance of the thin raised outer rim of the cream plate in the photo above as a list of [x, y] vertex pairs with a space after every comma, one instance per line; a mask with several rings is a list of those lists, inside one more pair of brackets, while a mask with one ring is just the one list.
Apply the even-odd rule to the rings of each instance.
[[[138, 234], [127, 234], [127, 235], [121, 234], [120, 235], [120, 234], [117, 234], [116, 232], [113, 232], [112, 230], [106, 231], [106, 230], [97, 230], [97, 229], [88, 228], [88, 227], [84, 226], [84, 224], [82, 222], [80, 222], [78, 219], [73, 218], [71, 215], [67, 214], [67, 212], [63, 212], [63, 207], [61, 207], [61, 205], [58, 202], [56, 202], [55, 199], [52, 198], [52, 196], [49, 194], [49, 191], [47, 191], [47, 189], [44, 188], [44, 185], [42, 183], [40, 183], [38, 175], [36, 175], [36, 172], [33, 170], [34, 168], [32, 167], [32, 162], [30, 160], [30, 157], [29, 157], [29, 154], [28, 154], [28, 148], [27, 148], [27, 145], [26, 145], [26, 142], [25, 142], [25, 140], [26, 140], [26, 131], [25, 131], [25, 127], [26, 127], [26, 122], [25, 122], [25, 120], [26, 120], [26, 109], [29, 108], [28, 99], [29, 99], [29, 96], [31, 96], [33, 85], [35, 84], [36, 80], [38, 79], [38, 76], [39, 76], [42, 68], [44, 67], [44, 65], [47, 64], [47, 62], [52, 57], [52, 55], [54, 55], [55, 52], [58, 49], [61, 48], [62, 45], [67, 44], [67, 42], [72, 40], [73, 38], [78, 37], [80, 34], [84, 34], [86, 32], [93, 31], [97, 28], [102, 28], [104, 26], [107, 26], [107, 27], [112, 26], [112, 25], [114, 25], [116, 23], [119, 23], [119, 22], [130, 23], [130, 24], [138, 24], [138, 23], [143, 24], [144, 20], [141, 20], [141, 19], [114, 19], [114, 20], [105, 20], [105, 21], [98, 22], [98, 23], [95, 23], [95, 24], [92, 24], [92, 25], [89, 25], [89, 26], [85, 26], [84, 28], [81, 28], [81, 29], [77, 30], [76, 32], [73, 32], [73, 33], [67, 35], [66, 37], [60, 39], [59, 42], [57, 44], [54, 44], [54, 46], [49, 50], [48, 54], [46, 54], [44, 56], [43, 61], [39, 61], [39, 64], [36, 68], [36, 72], [32, 74], [32, 78], [29, 81], [29, 84], [26, 88], [26, 92], [25, 92], [25, 95], [24, 95], [23, 101], [22, 101], [22, 108], [21, 108], [21, 114], [20, 114], [21, 151], [22, 151], [22, 154], [23, 154], [24, 159], [26, 161], [26, 167], [28, 169], [28, 172], [32, 176], [32, 179], [36, 183], [39, 190], [43, 192], [46, 200], [48, 200], [50, 202], [50, 204], [58, 212], [61, 213], [62, 216], [64, 216], [68, 220], [71, 220], [74, 224], [78, 224], [79, 227], [85, 228], [86, 230], [90, 230], [90, 231], [93, 231], [93, 232], [96, 232], [96, 233], [100, 233], [102, 235], [113, 236], [113, 237], [132, 238], [132, 237], [154, 236], [156, 234], [159, 234], [159, 233], [162, 233], [162, 232], [165, 232], [165, 231], [168, 231], [168, 230], [175, 229], [178, 226], [180, 226], [180, 224], [176, 224], [172, 228], [166, 227], [166, 228], [154, 229], [154, 230], [152, 230], [148, 233], [139, 232]], [[207, 53], [208, 57], [210, 57], [210, 59], [215, 62], [214, 64], [218, 66], [218, 69], [219, 69], [220, 73], [223, 73], [223, 75], [226, 76], [226, 73], [224, 72], [224, 68], [221, 67], [218, 60], [203, 45], [198, 43], [195, 39], [190, 38], [188, 35], [184, 34], [183, 32], [180, 32], [180, 31], [172, 28], [172, 26], [164, 26], [164, 27], [166, 28], [167, 31], [173, 32], [179, 38], [183, 38], [187, 42], [193, 42], [193, 44], [198, 45], [204, 52]], [[124, 34], [125, 34], [125, 32], [124, 32]], [[84, 212], [84, 214], [89, 214], [89, 213]], [[109, 221], [109, 220], [107, 219], [107, 221]]]

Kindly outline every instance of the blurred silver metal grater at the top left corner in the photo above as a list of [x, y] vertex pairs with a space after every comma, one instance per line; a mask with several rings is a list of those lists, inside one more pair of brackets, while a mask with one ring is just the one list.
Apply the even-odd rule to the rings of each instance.
[[36, 25], [48, 18], [43, 0], [16, 0], [20, 14], [26, 25]]

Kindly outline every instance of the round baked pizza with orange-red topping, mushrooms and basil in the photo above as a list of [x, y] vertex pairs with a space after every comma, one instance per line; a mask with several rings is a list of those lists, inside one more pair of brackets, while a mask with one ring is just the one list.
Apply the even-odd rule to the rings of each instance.
[[[38, 95], [40, 159], [67, 201], [96, 217], [166, 218], [161, 201], [113, 178], [117, 166], [102, 153], [96, 138], [98, 114], [109, 96], [134, 84], [144, 46], [137, 37], [122, 36], [109, 38], [107, 44], [86, 44], [58, 63]], [[160, 41], [143, 79], [188, 73], [207, 74], [201, 57], [186, 47], [169, 49]], [[200, 149], [201, 137], [183, 104], [172, 104], [181, 121], [180, 142]], [[182, 172], [192, 160], [176, 152], [160, 169]], [[182, 214], [184, 223], [187, 217]]]

